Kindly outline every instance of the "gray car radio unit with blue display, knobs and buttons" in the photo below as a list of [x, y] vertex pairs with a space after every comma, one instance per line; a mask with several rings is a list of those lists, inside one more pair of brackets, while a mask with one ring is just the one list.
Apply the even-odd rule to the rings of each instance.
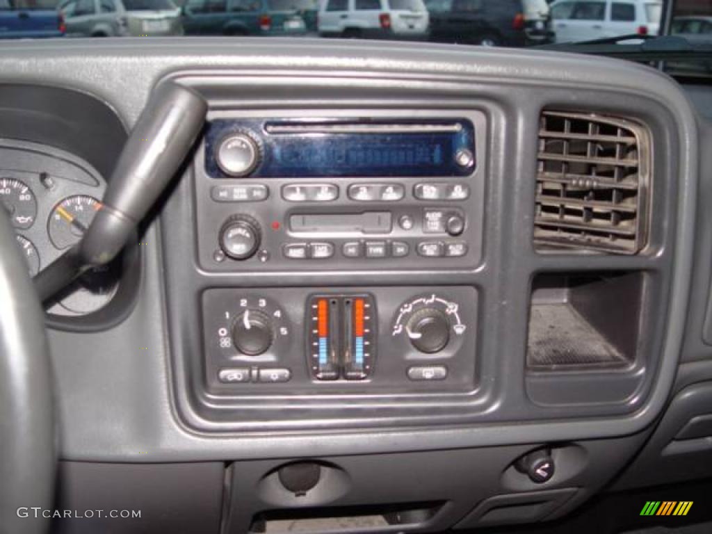
[[216, 111], [196, 154], [207, 271], [475, 268], [487, 122], [449, 110]]

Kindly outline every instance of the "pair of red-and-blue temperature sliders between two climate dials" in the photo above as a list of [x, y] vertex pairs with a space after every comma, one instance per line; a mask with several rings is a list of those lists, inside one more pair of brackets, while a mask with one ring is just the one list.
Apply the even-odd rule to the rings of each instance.
[[370, 295], [315, 295], [308, 310], [310, 370], [318, 380], [363, 380], [375, 359], [375, 307]]

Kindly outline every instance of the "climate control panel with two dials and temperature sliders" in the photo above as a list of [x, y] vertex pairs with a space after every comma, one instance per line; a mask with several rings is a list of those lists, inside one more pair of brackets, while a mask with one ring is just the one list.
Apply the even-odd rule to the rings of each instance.
[[206, 385], [231, 395], [469, 391], [477, 300], [469, 286], [209, 289]]

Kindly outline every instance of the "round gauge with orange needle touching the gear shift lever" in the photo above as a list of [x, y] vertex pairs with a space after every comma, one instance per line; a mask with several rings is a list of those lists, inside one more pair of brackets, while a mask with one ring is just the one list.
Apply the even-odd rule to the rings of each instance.
[[102, 204], [94, 197], [78, 194], [55, 206], [47, 222], [52, 244], [60, 250], [78, 243]]

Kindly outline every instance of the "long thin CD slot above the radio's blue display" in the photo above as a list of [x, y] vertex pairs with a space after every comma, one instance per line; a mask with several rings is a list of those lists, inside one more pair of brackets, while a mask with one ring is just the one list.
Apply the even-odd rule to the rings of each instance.
[[298, 124], [267, 124], [270, 134], [390, 134], [390, 133], [456, 133], [462, 130], [459, 122], [446, 124], [369, 123], [369, 122], [300, 122]]

